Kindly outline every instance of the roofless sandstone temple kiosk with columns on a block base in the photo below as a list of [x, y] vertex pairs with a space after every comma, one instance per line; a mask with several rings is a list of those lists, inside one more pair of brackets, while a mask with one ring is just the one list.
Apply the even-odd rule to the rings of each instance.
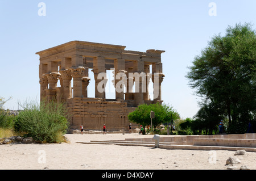
[[[70, 41], [37, 52], [40, 56], [40, 100], [67, 103], [68, 111], [72, 114], [70, 130], [79, 129], [81, 124], [85, 130], [102, 130], [103, 124], [106, 124], [108, 131], [127, 130], [130, 124], [127, 115], [139, 104], [162, 103], [164, 74], [161, 53], [164, 51], [150, 49], [137, 52], [125, 48]], [[89, 69], [94, 77], [89, 77]], [[110, 69], [114, 70], [115, 99], [106, 99], [105, 96], [105, 86], [109, 80], [104, 73]], [[137, 79], [136, 74], [144, 77]], [[150, 79], [154, 83], [152, 100], [148, 95]], [[95, 91], [95, 98], [88, 97], [87, 88], [92, 81], [95, 82], [95, 89], [92, 90]]]

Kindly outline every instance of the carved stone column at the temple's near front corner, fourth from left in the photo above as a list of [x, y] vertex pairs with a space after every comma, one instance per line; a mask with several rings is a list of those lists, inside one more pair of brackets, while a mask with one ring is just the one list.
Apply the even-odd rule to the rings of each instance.
[[70, 68], [72, 77], [73, 77], [73, 97], [81, 98], [82, 97], [82, 75], [84, 71], [83, 66], [76, 68]]

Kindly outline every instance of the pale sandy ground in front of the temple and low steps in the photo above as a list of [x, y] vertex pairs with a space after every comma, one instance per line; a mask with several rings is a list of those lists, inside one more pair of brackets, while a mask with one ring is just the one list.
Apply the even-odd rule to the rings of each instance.
[[[169, 150], [143, 146], [79, 144], [77, 141], [125, 140], [152, 137], [133, 134], [66, 134], [70, 143], [0, 145], [0, 169], [10, 170], [226, 170], [229, 157], [234, 166], [256, 169], [256, 153], [235, 151]], [[210, 157], [213, 157], [210, 158]], [[216, 159], [214, 159], [216, 158]], [[216, 160], [216, 162], [214, 162]]]

